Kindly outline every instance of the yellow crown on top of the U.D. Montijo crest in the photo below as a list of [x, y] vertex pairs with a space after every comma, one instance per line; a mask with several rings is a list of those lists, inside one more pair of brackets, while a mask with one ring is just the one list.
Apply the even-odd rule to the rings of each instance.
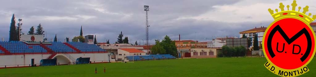
[[311, 18], [310, 16], [312, 15], [312, 13], [309, 13], [308, 16], [305, 15], [305, 13], [308, 11], [308, 6], [306, 6], [305, 8], [303, 8], [303, 12], [301, 13], [301, 7], [298, 7], [298, 11], [295, 11], [295, 7], [297, 6], [296, 1], [294, 0], [292, 5], [292, 10], [289, 10], [289, 5], [287, 5], [286, 7], [288, 8], [288, 10], [284, 10], [284, 5], [283, 3], [280, 3], [279, 8], [281, 9], [280, 12], [278, 12], [278, 9], [275, 9], [276, 13], [273, 13], [274, 11], [272, 9], [268, 9], [268, 11], [270, 12], [271, 16], [274, 18], [274, 20], [278, 19], [278, 18], [282, 18], [282, 17], [286, 17], [286, 16], [295, 16], [297, 18], [300, 18], [304, 21], [306, 21], [307, 23], [312, 23], [315, 19], [316, 19], [316, 15], [313, 15], [313, 18]]

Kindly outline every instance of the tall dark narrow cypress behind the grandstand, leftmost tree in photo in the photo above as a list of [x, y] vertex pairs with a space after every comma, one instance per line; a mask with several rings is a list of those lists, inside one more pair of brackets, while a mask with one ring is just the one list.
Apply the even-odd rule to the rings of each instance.
[[16, 28], [15, 28], [15, 16], [12, 15], [11, 18], [11, 25], [10, 25], [10, 31], [9, 31], [9, 41], [17, 41], [17, 35], [16, 35]]

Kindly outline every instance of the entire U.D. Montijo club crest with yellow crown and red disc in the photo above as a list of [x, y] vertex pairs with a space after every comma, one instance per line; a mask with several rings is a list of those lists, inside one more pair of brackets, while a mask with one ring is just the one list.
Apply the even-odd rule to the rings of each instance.
[[279, 76], [298, 76], [309, 71], [307, 64], [315, 55], [315, 33], [310, 23], [316, 15], [308, 12], [308, 6], [297, 7], [280, 3], [279, 9], [268, 9], [274, 21], [263, 36], [264, 67]]

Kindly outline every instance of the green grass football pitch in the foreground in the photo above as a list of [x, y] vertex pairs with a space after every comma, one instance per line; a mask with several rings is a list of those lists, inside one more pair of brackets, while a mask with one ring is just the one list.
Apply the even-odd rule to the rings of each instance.
[[[275, 77], [265, 58], [206, 58], [0, 69], [0, 77]], [[316, 74], [316, 61], [302, 77]], [[103, 68], [106, 67], [106, 73]], [[97, 68], [97, 74], [94, 73]]]

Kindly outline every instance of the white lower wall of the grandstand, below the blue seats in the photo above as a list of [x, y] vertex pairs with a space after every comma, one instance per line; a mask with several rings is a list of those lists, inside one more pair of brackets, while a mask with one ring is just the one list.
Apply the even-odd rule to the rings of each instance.
[[[80, 53], [80, 54], [69, 54], [73, 58], [84, 58], [90, 57], [91, 62], [109, 62], [110, 53]], [[0, 56], [0, 68], [6, 67], [23, 67], [29, 66], [31, 64], [31, 59], [34, 59], [34, 64], [37, 66], [40, 64], [40, 60], [46, 59], [50, 54], [31, 54], [31, 55], [3, 55]], [[68, 56], [64, 54], [57, 54], [54, 56], [57, 58], [57, 64], [59, 62], [60, 65], [67, 65], [69, 62], [73, 62], [69, 59]], [[114, 62], [115, 59], [111, 59], [110, 62]], [[19, 66], [17, 66], [19, 65]]]

